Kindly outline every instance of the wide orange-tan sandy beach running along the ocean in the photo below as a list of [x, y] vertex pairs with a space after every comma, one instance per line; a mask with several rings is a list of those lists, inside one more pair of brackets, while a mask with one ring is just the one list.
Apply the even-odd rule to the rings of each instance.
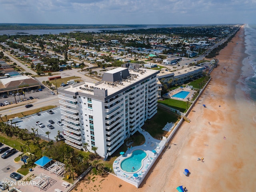
[[[138, 189], [110, 174], [80, 183], [77, 191], [176, 192], [180, 185], [189, 192], [253, 191], [256, 107], [242, 91], [247, 73], [242, 68], [247, 57], [244, 49], [241, 28], [217, 56], [220, 66], [211, 73], [210, 84], [188, 115], [191, 122], [178, 129]], [[198, 161], [202, 157], [204, 162]], [[185, 168], [189, 176], [183, 174]]]

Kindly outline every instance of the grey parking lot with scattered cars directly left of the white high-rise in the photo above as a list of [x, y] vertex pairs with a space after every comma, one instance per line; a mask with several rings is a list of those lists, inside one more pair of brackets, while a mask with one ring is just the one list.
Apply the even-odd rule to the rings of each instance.
[[[54, 114], [49, 114], [47, 111], [40, 112], [40, 115], [38, 116], [37, 114], [32, 114], [30, 116], [26, 116], [24, 118], [20, 118], [16, 122], [16, 126], [18, 126], [20, 129], [27, 129], [28, 132], [33, 132], [32, 128], [34, 128], [35, 134], [39, 134], [40, 138], [44, 140], [48, 140], [48, 135], [46, 132], [50, 132], [49, 138], [50, 140], [55, 141], [55, 137], [58, 135], [58, 130], [62, 134], [62, 126], [57, 124], [57, 121], [61, 120], [61, 114], [60, 114], [60, 108], [54, 108], [52, 109]], [[50, 124], [49, 120], [53, 120], [54, 123], [51, 124], [54, 126], [54, 129], [50, 129], [47, 127], [48, 124]], [[16, 120], [15, 120], [16, 121]], [[40, 128], [39, 126], [36, 125], [36, 122], [40, 121], [45, 125], [45, 127]], [[37, 131], [36, 131], [37, 130]]]

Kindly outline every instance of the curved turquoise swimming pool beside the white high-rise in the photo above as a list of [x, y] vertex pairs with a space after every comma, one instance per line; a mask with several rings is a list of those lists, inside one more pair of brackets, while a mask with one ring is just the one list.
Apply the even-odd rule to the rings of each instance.
[[143, 160], [147, 158], [148, 153], [141, 149], [136, 149], [132, 154], [120, 162], [120, 169], [126, 173], [137, 172], [143, 166]]

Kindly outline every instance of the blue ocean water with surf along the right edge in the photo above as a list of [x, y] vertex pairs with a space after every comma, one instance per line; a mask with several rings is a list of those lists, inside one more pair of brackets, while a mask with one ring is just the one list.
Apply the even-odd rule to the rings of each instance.
[[246, 25], [245, 33], [245, 53], [248, 58], [243, 60], [244, 66], [251, 66], [252, 71], [244, 79], [245, 91], [253, 101], [256, 101], [256, 24]]

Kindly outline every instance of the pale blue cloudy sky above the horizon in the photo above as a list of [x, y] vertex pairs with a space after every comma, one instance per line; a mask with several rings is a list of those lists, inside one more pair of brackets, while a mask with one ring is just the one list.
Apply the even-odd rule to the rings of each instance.
[[0, 0], [0, 23], [255, 24], [256, 0]]

